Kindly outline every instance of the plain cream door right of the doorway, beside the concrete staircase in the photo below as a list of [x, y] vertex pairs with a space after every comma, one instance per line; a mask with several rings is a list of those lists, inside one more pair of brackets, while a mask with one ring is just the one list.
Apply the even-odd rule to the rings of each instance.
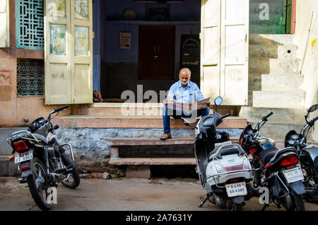
[[249, 0], [201, 1], [201, 87], [224, 105], [247, 105]]

